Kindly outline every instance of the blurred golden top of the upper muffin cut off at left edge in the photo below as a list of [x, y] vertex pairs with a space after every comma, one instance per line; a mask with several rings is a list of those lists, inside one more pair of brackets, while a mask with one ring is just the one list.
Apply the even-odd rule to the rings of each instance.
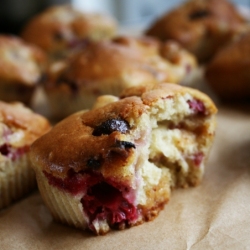
[[39, 48], [17, 37], [0, 35], [0, 81], [32, 86], [41, 79], [45, 62]]

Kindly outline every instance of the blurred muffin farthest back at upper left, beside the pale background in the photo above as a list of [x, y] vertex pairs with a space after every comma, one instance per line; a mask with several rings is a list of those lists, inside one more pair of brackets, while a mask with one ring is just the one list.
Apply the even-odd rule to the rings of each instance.
[[59, 5], [31, 19], [24, 27], [22, 37], [58, 59], [77, 51], [89, 39], [107, 39], [115, 32], [116, 22], [109, 16], [83, 13], [68, 5]]

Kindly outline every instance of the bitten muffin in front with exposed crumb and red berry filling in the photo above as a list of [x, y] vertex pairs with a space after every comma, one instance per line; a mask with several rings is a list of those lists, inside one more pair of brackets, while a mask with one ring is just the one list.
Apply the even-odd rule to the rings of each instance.
[[95, 234], [152, 220], [171, 187], [198, 185], [216, 113], [206, 95], [175, 84], [101, 99], [31, 147], [38, 187], [54, 219]]

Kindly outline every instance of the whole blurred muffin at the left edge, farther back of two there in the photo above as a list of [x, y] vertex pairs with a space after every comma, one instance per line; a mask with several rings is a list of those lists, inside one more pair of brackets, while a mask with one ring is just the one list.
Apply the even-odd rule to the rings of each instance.
[[45, 63], [39, 48], [18, 37], [0, 35], [0, 100], [30, 105]]

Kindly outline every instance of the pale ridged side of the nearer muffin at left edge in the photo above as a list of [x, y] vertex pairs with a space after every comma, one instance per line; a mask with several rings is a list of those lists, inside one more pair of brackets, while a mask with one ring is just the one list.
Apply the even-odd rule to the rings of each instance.
[[28, 154], [0, 163], [0, 209], [30, 193], [36, 187]]

